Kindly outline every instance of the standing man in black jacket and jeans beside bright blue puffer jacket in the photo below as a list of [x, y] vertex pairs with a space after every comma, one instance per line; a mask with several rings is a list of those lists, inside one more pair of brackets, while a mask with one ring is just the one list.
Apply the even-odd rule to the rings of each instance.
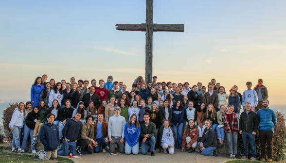
[[241, 159], [248, 159], [248, 140], [250, 142], [251, 157], [250, 160], [256, 160], [255, 135], [258, 129], [257, 114], [251, 111], [251, 104], [245, 104], [245, 111], [240, 114], [239, 133], [242, 134], [244, 156]]

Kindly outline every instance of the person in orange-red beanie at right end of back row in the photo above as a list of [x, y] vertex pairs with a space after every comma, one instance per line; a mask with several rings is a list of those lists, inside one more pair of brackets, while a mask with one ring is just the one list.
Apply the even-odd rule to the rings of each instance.
[[255, 108], [255, 112], [263, 108], [263, 105], [262, 105], [263, 99], [268, 99], [268, 90], [266, 86], [264, 86], [262, 83], [263, 83], [263, 80], [258, 79], [258, 84], [256, 85], [256, 87], [254, 87], [254, 91], [256, 91], [257, 97], [258, 97], [258, 105]]

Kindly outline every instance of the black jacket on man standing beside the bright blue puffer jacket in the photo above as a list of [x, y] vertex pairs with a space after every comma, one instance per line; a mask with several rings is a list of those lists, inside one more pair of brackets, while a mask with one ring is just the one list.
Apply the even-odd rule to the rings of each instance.
[[246, 114], [246, 112], [242, 112], [239, 118], [239, 130], [243, 132], [257, 132], [259, 125], [258, 117], [255, 112], [250, 112]]

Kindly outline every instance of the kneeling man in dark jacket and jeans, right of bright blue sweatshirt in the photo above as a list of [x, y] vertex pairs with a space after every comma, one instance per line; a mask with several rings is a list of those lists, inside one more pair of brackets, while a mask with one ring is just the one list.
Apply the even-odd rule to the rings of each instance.
[[156, 125], [153, 122], [150, 122], [150, 114], [143, 114], [144, 123], [141, 125], [141, 150], [142, 154], [147, 154], [148, 150], [151, 151], [151, 156], [155, 156], [155, 146], [156, 146]]

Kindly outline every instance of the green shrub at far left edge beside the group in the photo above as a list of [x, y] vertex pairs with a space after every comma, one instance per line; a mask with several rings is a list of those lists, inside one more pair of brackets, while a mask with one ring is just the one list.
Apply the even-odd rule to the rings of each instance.
[[3, 119], [4, 132], [5, 132], [6, 138], [10, 140], [9, 141], [10, 143], [12, 143], [13, 134], [9, 128], [9, 123], [11, 121], [12, 114], [13, 114], [15, 108], [18, 107], [18, 103], [16, 103], [16, 104], [13, 103], [12, 105], [11, 104], [9, 104], [9, 105], [10, 106], [4, 110], [2, 119]]

